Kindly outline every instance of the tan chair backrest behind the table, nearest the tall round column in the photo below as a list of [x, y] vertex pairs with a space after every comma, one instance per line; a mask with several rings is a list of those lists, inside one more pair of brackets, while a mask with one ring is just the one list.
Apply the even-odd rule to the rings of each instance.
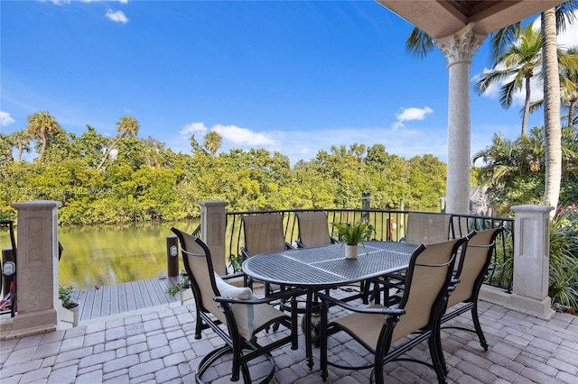
[[412, 244], [433, 244], [450, 238], [449, 214], [410, 212], [407, 214], [406, 242]]

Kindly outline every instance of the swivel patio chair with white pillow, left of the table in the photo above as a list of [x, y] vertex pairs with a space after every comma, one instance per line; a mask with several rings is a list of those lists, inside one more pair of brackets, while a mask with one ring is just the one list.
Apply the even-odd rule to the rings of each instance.
[[[230, 376], [232, 381], [238, 381], [242, 374], [245, 383], [254, 382], [248, 363], [252, 361], [260, 365], [265, 358], [270, 363], [270, 369], [259, 382], [269, 382], [275, 373], [275, 361], [271, 351], [286, 344], [291, 344], [293, 350], [298, 346], [296, 311], [292, 311], [292, 315], [285, 315], [270, 303], [283, 297], [290, 300], [292, 306], [296, 306], [295, 292], [287, 291], [266, 298], [254, 298], [250, 288], [234, 287], [219, 278], [213, 270], [209, 248], [198, 237], [176, 228], [171, 230], [181, 242], [184, 269], [191, 279], [196, 306], [195, 338], [200, 339], [201, 331], [210, 328], [225, 342], [224, 346], [215, 348], [200, 359], [195, 373], [197, 382], [203, 382], [203, 374], [227, 353], [233, 354]], [[256, 334], [274, 323], [284, 325], [289, 334], [275, 337], [263, 345], [257, 343]]]

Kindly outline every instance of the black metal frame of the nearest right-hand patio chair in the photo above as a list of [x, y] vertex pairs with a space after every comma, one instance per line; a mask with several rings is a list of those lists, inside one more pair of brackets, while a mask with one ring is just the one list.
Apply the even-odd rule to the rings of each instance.
[[[322, 299], [322, 338], [321, 338], [321, 352], [320, 352], [320, 360], [321, 360], [321, 375], [323, 381], [328, 378], [328, 366], [331, 365], [336, 368], [344, 369], [344, 370], [361, 370], [367, 368], [373, 368], [371, 373], [371, 377], [374, 378], [377, 383], [381, 384], [384, 382], [384, 373], [382, 366], [389, 361], [413, 361], [420, 364], [423, 364], [431, 369], [433, 369], [436, 373], [437, 379], [440, 383], [446, 382], [446, 372], [443, 369], [443, 357], [440, 356], [440, 352], [442, 351], [442, 343], [440, 338], [440, 330], [439, 327], [441, 326], [441, 318], [443, 315], [443, 310], [446, 307], [447, 298], [450, 293], [450, 284], [452, 279], [452, 271], [453, 265], [456, 259], [456, 254], [461, 245], [468, 242], [467, 238], [455, 239], [448, 242], [453, 242], [452, 244], [452, 251], [449, 255], [449, 261], [444, 262], [443, 264], [422, 264], [419, 261], [419, 255], [422, 254], [426, 250], [426, 246], [424, 244], [420, 245], [412, 254], [409, 267], [407, 269], [406, 274], [406, 290], [404, 291], [404, 296], [402, 297], [401, 301], [397, 306], [394, 307], [384, 307], [384, 306], [373, 306], [362, 308], [359, 306], [352, 306], [349, 303], [343, 302], [336, 298], [319, 294], [319, 297]], [[407, 343], [402, 345], [396, 346], [394, 350], [390, 351], [392, 337], [394, 335], [394, 330], [399, 322], [402, 315], [406, 314], [406, 303], [411, 295], [411, 285], [414, 276], [415, 266], [426, 266], [426, 267], [445, 267], [447, 268], [447, 272], [444, 277], [442, 289], [437, 294], [435, 299], [433, 300], [433, 305], [430, 311], [430, 317], [428, 324], [423, 328], [416, 330], [413, 335], [414, 337], [411, 338]], [[419, 282], [414, 282], [414, 284], [418, 284]], [[378, 337], [378, 343], [375, 348], [373, 349], [372, 346], [369, 346], [367, 343], [364, 343], [356, 334], [353, 334], [350, 329], [339, 325], [337, 323], [328, 323], [328, 311], [330, 306], [341, 306], [345, 309], [350, 310], [351, 312], [357, 312], [361, 314], [380, 314], [385, 315], [383, 325], [381, 327], [380, 334], [376, 335]], [[362, 345], [368, 352], [374, 354], [374, 361], [372, 363], [368, 363], [363, 366], [344, 366], [335, 362], [328, 361], [327, 356], [327, 340], [329, 335], [336, 334], [337, 332], [344, 331], [347, 334], [357, 341], [360, 345]], [[428, 340], [429, 342], [429, 350], [430, 356], [432, 359], [432, 363], [428, 363], [427, 361], [418, 361], [416, 359], [411, 358], [402, 358], [400, 357], [405, 352], [411, 350], [415, 347], [415, 345], [422, 343], [424, 340]]]

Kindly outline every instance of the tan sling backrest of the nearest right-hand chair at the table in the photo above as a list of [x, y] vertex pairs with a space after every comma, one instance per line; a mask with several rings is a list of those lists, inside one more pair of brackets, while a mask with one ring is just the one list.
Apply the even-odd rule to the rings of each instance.
[[391, 343], [432, 324], [443, 305], [452, 278], [455, 256], [465, 238], [418, 248], [409, 263], [406, 289], [399, 308], [406, 310], [394, 328]]

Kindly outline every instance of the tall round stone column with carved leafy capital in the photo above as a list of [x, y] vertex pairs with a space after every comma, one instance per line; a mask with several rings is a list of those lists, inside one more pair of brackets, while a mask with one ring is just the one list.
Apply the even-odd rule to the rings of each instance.
[[472, 32], [473, 23], [451, 36], [435, 39], [448, 60], [448, 179], [446, 213], [470, 213], [470, 67], [471, 57], [486, 35]]

